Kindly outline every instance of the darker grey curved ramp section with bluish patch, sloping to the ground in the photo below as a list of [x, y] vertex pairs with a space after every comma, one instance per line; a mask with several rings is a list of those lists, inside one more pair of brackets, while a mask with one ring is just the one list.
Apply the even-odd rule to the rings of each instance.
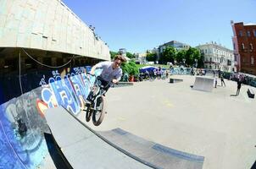
[[121, 128], [100, 132], [100, 134], [130, 154], [153, 164], [153, 166], [158, 166], [158, 168], [203, 168], [203, 156], [188, 154], [180, 150], [174, 150], [164, 145], [147, 141]]

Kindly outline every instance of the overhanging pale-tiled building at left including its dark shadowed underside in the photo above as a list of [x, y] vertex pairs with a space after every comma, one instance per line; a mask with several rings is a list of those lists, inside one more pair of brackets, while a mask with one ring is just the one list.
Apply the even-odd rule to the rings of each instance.
[[[109, 47], [62, 1], [0, 1], [0, 72], [110, 60]], [[30, 55], [38, 63], [31, 60]]]

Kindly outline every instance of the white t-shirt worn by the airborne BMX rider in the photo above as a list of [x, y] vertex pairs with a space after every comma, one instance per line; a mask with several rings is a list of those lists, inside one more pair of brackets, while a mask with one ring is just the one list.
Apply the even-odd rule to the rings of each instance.
[[105, 81], [111, 81], [112, 79], [120, 80], [123, 74], [122, 68], [113, 68], [113, 62], [105, 61], [96, 64], [96, 68], [103, 68], [102, 74], [99, 76]]

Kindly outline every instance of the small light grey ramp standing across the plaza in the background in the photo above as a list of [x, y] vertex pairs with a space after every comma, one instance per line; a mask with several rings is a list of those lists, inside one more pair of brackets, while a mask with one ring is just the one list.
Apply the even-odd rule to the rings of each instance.
[[214, 79], [206, 77], [196, 77], [193, 90], [202, 90], [211, 92], [214, 88]]

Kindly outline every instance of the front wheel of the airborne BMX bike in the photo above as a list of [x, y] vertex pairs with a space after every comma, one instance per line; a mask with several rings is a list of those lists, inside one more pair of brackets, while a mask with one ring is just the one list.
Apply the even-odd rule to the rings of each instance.
[[103, 122], [103, 117], [105, 115], [105, 98], [103, 95], [97, 98], [96, 110], [92, 113], [92, 123], [95, 126], [100, 125]]

